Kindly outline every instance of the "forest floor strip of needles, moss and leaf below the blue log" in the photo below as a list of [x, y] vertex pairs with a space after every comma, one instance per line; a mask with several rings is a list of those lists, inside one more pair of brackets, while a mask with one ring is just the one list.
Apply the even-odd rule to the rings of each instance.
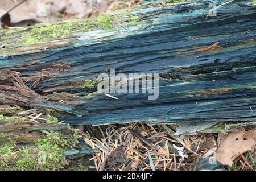
[[[2, 170], [255, 169], [255, 130], [240, 129], [230, 131], [229, 134], [174, 135], [170, 133], [175, 133], [176, 125], [151, 126], [143, 123], [85, 126], [77, 130], [57, 121], [54, 112], [46, 113], [36, 112], [22, 117], [0, 115], [0, 130], [6, 134], [6, 137], [1, 135], [0, 142]], [[49, 138], [55, 140], [49, 143], [51, 147], [59, 147], [56, 163], [53, 161], [40, 166], [40, 158], [35, 158], [33, 167], [19, 165], [27, 163], [31, 152], [37, 152], [33, 156], [38, 156], [38, 152], [48, 152], [44, 148], [41, 151], [39, 149], [42, 149], [41, 144], [47, 144]], [[48, 157], [47, 154], [46, 161]], [[197, 168], [197, 165], [200, 167]]]

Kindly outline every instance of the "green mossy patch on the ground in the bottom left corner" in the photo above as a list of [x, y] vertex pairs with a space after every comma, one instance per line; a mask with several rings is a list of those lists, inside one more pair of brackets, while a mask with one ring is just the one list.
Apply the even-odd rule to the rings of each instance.
[[63, 152], [76, 145], [78, 135], [75, 131], [69, 139], [51, 131], [34, 146], [17, 148], [15, 142], [0, 147], [0, 170], [57, 170], [66, 164]]

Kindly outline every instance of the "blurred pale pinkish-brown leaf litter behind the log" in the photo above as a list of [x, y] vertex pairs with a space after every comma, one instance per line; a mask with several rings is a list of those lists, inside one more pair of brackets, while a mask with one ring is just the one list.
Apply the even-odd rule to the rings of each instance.
[[139, 1], [140, 0], [1, 0], [1, 26], [4, 28], [22, 27], [31, 26], [36, 23], [96, 18], [102, 13], [110, 13], [114, 10], [129, 8], [136, 5]]

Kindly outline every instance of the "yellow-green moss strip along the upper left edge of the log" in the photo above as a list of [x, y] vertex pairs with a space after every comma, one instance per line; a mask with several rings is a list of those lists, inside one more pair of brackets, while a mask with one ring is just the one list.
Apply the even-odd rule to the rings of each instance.
[[[26, 27], [16, 28], [13, 30], [0, 30], [0, 40], [2, 42], [9, 42], [7, 39], [10, 39], [11, 36], [14, 35], [19, 36], [18, 42], [20, 42], [20, 44], [35, 44], [50, 42], [52, 40], [65, 39], [75, 32], [92, 30], [94, 28], [112, 28], [113, 17], [114, 16], [104, 14], [98, 16], [96, 20], [87, 18], [66, 22], [37, 24], [30, 28]], [[27, 30], [30, 31], [27, 33]]]

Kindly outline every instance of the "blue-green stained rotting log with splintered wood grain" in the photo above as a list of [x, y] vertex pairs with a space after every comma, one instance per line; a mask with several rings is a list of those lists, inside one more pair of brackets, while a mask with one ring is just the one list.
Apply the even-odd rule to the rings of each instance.
[[[194, 131], [201, 123], [255, 121], [256, 6], [233, 1], [218, 7], [216, 17], [206, 18], [208, 12], [207, 1], [144, 1], [113, 13], [112, 28], [96, 22], [84, 30], [82, 20], [65, 22], [70, 34], [58, 40], [31, 38], [44, 25], [2, 31], [0, 102], [81, 115], [62, 118], [72, 125], [189, 123]], [[96, 85], [81, 85], [109, 73], [106, 68], [159, 73], [158, 100], [147, 94], [84, 97]]]

